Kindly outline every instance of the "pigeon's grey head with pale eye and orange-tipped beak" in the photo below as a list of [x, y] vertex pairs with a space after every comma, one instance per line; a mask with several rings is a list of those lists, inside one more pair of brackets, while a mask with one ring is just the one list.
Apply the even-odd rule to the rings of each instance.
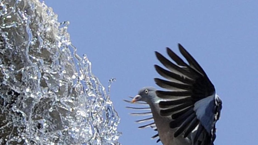
[[155, 92], [156, 92], [156, 88], [154, 87], [144, 87], [140, 89], [138, 94], [133, 98], [132, 103], [135, 103], [137, 101], [144, 101], [149, 104], [155, 101], [155, 99], [157, 98], [157, 95]]

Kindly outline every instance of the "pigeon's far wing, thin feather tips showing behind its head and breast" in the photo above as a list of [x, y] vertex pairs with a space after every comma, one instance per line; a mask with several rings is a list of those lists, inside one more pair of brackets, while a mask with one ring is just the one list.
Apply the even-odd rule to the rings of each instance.
[[[133, 97], [130, 97], [130, 98], [133, 98]], [[132, 115], [132, 116], [149, 116], [147, 118], [135, 121], [137, 123], [146, 123], [146, 122], [148, 122], [147, 124], [139, 126], [138, 128], [139, 129], [143, 129], [143, 128], [151, 127], [154, 131], [158, 131], [157, 130], [157, 126], [156, 126], [156, 124], [154, 122], [154, 119], [153, 119], [153, 116], [152, 116], [151, 108], [149, 107], [149, 105], [147, 103], [145, 103], [145, 102], [135, 102], [135, 103], [132, 103], [132, 101], [129, 101], [129, 100], [124, 100], [124, 101], [127, 102], [127, 103], [131, 103], [131, 104], [146, 105], [146, 106], [148, 106], [148, 107], [130, 107], [130, 106], [127, 106], [126, 108], [134, 109], [134, 110], [139, 110], [139, 111], [149, 110], [148, 112], [130, 113], [130, 115]], [[151, 139], [156, 139], [156, 138], [157, 138], [157, 143], [158, 143], [160, 141], [158, 133], [151, 137]]]

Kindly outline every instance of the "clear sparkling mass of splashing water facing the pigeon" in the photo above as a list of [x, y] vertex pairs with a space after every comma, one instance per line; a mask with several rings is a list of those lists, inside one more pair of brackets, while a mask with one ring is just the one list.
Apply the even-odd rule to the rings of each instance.
[[109, 91], [68, 25], [38, 0], [0, 1], [0, 144], [120, 144]]

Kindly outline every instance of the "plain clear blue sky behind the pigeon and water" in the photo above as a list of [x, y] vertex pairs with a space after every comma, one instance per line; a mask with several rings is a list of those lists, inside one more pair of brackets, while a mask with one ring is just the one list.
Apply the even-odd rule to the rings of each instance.
[[[152, 129], [137, 129], [122, 99], [155, 86], [154, 51], [178, 53], [181, 43], [199, 62], [223, 101], [216, 145], [256, 145], [258, 120], [258, 1], [88, 1], [45, 0], [69, 21], [77, 53], [107, 87], [121, 117], [123, 145], [155, 145]], [[158, 88], [158, 87], [157, 87]], [[161, 143], [159, 143], [161, 144]]]

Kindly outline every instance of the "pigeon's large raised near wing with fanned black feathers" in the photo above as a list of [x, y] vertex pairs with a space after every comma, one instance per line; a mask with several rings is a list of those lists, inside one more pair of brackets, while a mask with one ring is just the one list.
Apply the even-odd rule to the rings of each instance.
[[170, 127], [177, 128], [174, 137], [181, 133], [187, 137], [192, 132], [194, 145], [213, 144], [221, 100], [201, 66], [182, 45], [178, 45], [189, 64], [169, 48], [167, 53], [175, 63], [155, 52], [157, 59], [167, 68], [155, 65], [156, 71], [167, 79], [154, 79], [158, 86], [168, 89], [156, 91], [158, 97], [166, 99], [159, 102], [160, 115], [172, 117]]

